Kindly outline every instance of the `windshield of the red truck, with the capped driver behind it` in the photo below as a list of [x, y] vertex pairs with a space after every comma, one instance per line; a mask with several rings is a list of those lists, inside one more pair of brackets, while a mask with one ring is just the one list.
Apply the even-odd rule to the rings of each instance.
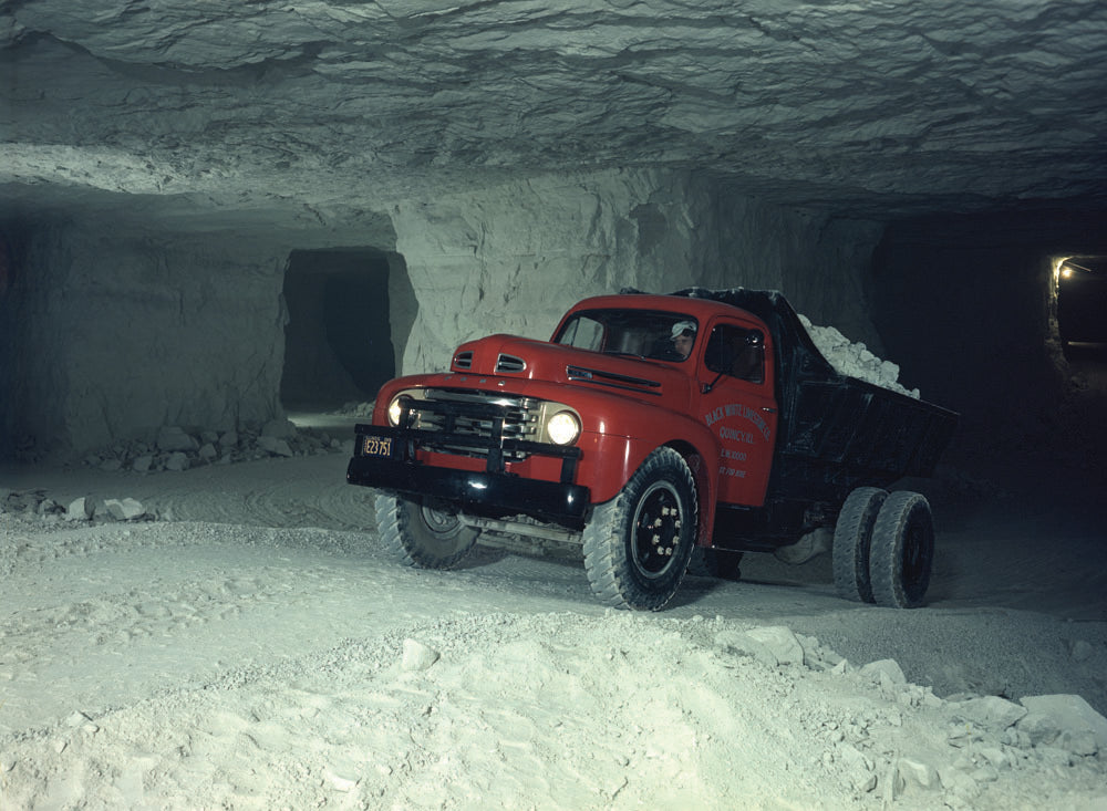
[[695, 345], [699, 323], [659, 310], [587, 310], [576, 313], [555, 343], [611, 355], [683, 361]]

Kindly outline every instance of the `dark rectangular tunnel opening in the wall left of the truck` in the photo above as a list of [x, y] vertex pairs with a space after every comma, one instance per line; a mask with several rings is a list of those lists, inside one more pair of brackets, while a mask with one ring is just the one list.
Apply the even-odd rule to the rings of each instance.
[[286, 410], [335, 410], [371, 401], [395, 376], [389, 259], [373, 248], [289, 254], [280, 385]]

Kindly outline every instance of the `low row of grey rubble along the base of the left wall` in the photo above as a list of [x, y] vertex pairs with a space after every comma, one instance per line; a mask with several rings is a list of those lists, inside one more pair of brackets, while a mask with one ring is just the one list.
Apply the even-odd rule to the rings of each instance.
[[342, 444], [322, 433], [297, 428], [288, 419], [272, 419], [260, 429], [186, 432], [166, 426], [153, 443], [121, 441], [84, 458], [89, 467], [114, 472], [187, 470], [199, 465], [229, 465], [271, 457], [308, 456], [342, 449]]

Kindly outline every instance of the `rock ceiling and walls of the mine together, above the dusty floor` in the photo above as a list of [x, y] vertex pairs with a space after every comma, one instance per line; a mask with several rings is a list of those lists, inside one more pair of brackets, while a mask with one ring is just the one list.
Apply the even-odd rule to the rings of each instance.
[[1100, 364], [1052, 263], [1107, 253], [1107, 10], [1046, 6], [13, 7], [0, 454], [364, 404], [584, 295], [702, 285], [782, 290], [965, 437], [1087, 458]]

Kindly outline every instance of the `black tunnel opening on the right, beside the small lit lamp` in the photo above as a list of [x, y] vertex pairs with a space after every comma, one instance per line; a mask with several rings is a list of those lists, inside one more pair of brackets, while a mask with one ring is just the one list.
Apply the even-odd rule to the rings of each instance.
[[875, 324], [904, 385], [961, 414], [955, 448], [1080, 468], [1107, 449], [1107, 364], [1065, 356], [1056, 308], [1059, 262], [1107, 252], [1103, 222], [1034, 210], [886, 229]]

